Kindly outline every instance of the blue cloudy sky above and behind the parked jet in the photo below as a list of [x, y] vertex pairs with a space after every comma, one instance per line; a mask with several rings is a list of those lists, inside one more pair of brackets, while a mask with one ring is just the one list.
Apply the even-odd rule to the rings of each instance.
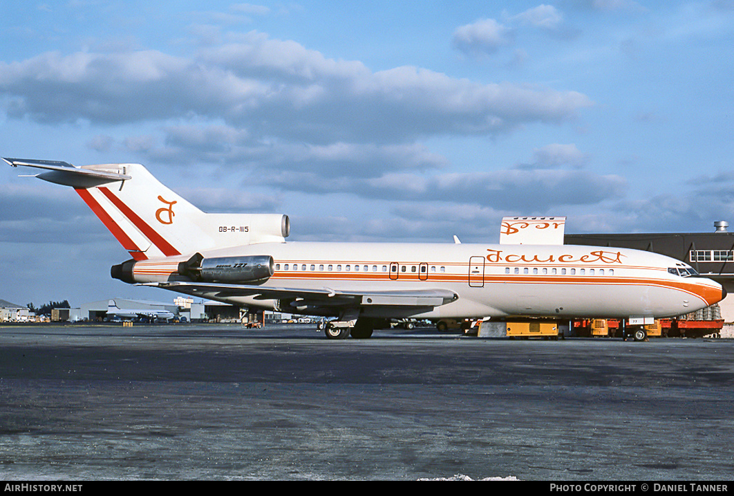
[[[290, 240], [734, 225], [734, 0], [2, 1], [0, 156], [139, 162]], [[0, 298], [128, 287], [72, 190], [0, 173]]]

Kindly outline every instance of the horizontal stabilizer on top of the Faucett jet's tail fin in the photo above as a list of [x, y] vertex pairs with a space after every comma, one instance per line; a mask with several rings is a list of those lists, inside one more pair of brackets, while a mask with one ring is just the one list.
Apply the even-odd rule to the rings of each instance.
[[68, 162], [56, 160], [3, 158], [11, 167], [32, 167], [48, 170], [37, 175], [39, 179], [75, 188], [87, 189], [114, 181], [126, 181], [131, 176], [120, 172], [119, 165], [89, 165], [75, 167]]

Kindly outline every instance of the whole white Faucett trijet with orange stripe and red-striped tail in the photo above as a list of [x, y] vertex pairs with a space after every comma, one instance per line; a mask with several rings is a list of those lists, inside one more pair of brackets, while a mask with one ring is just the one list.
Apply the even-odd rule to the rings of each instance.
[[114, 265], [112, 277], [250, 308], [337, 317], [326, 329], [332, 339], [370, 337], [380, 320], [407, 317], [649, 323], [726, 295], [689, 265], [647, 251], [468, 244], [456, 237], [420, 244], [286, 242], [288, 216], [202, 212], [139, 164], [4, 160], [76, 190], [132, 257]]

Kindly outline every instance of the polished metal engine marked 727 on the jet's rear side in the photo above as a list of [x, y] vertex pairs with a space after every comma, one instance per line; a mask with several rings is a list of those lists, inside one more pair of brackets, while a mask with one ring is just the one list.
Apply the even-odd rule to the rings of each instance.
[[260, 283], [273, 275], [275, 264], [270, 255], [216, 256], [194, 254], [178, 264], [181, 276], [200, 282]]

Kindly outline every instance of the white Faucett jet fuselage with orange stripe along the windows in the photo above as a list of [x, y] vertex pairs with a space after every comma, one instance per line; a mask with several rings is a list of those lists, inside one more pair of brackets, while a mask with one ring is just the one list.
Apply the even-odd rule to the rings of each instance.
[[[669, 317], [722, 299], [709, 279], [683, 277], [687, 265], [646, 251], [577, 245], [282, 242], [202, 252], [270, 255], [262, 287], [350, 290], [450, 290], [459, 298], [432, 309], [363, 306], [364, 317]], [[140, 283], [175, 280], [186, 256], [137, 262]], [[185, 292], [181, 290], [181, 292]], [[299, 313], [297, 302], [251, 296], [204, 298]], [[328, 309], [325, 311], [328, 314]]]

